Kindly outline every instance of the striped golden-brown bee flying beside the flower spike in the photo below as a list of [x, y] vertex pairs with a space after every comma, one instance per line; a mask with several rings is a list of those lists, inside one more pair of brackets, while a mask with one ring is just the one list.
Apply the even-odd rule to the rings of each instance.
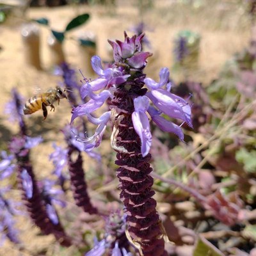
[[56, 88], [50, 88], [45, 93], [37, 93], [35, 96], [29, 98], [24, 105], [23, 112], [24, 115], [31, 115], [32, 113], [35, 113], [39, 109], [43, 110], [43, 121], [47, 117], [47, 106], [51, 106], [51, 110], [55, 110], [55, 107], [53, 105], [54, 102], [58, 101], [58, 104], [60, 104], [60, 99], [66, 98], [67, 95], [65, 93], [65, 90], [62, 90], [60, 87]]

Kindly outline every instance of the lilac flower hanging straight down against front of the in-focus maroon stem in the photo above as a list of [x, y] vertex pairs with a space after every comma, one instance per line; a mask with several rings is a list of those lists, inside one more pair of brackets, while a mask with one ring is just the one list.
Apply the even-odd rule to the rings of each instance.
[[152, 135], [150, 132], [148, 116], [145, 113], [149, 106], [147, 97], [138, 97], [134, 99], [134, 112], [132, 113], [132, 123], [137, 134], [141, 140], [141, 154], [143, 157], [147, 156], [151, 143]]

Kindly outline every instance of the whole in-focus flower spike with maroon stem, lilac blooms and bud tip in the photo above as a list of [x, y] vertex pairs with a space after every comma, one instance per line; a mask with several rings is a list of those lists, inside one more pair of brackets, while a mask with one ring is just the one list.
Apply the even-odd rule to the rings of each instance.
[[[100, 58], [93, 56], [92, 67], [99, 79], [82, 86], [83, 97], [91, 99], [74, 109], [71, 122], [77, 116], [84, 115], [90, 122], [98, 125], [91, 138], [79, 140], [89, 149], [99, 146], [110, 117], [113, 123], [111, 146], [117, 152], [115, 163], [119, 168], [116, 175], [120, 180], [120, 199], [127, 215], [127, 231], [131, 241], [138, 241], [138, 249], [143, 255], [165, 256], [167, 253], [164, 250], [161, 220], [156, 211], [156, 200], [152, 198], [154, 180], [150, 176], [152, 168], [149, 163], [152, 135], [148, 115], [163, 131], [174, 132], [183, 140], [180, 127], [164, 119], [161, 114], [179, 118], [192, 126], [191, 109], [186, 100], [162, 88], [166, 85], [170, 89], [168, 68], [160, 71], [159, 83], [145, 79], [143, 68], [152, 54], [141, 51], [143, 36], [141, 34], [129, 38], [125, 33], [124, 42], [109, 41], [113, 47], [115, 63], [106, 70], [103, 70]], [[144, 87], [145, 84], [148, 90]], [[102, 90], [104, 94], [100, 92], [99, 99], [95, 100], [94, 92], [97, 90]], [[110, 93], [106, 93], [106, 90]], [[110, 112], [106, 111], [100, 118], [93, 117], [92, 112], [99, 109], [106, 100], [109, 100]], [[150, 100], [154, 107], [150, 106]], [[114, 246], [117, 245], [113, 244]], [[120, 248], [120, 241], [118, 247]], [[116, 253], [119, 253], [117, 248]]]

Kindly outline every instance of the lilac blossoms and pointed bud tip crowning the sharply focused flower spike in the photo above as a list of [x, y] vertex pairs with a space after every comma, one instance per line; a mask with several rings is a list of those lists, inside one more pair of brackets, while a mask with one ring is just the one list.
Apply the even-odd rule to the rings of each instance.
[[[81, 97], [83, 99], [90, 97], [90, 100], [74, 108], [71, 118], [72, 123], [78, 116], [87, 116], [90, 122], [98, 125], [93, 136], [80, 140], [85, 143], [87, 150], [99, 147], [108, 120], [111, 118], [111, 111], [103, 113], [99, 118], [92, 116], [93, 111], [99, 109], [107, 99], [113, 99], [118, 86], [122, 86], [124, 83], [126, 90], [130, 90], [129, 86], [131, 87], [134, 83], [145, 84], [148, 88], [147, 93], [143, 93], [145, 95], [136, 95], [135, 93], [133, 95], [134, 112], [132, 113], [132, 122], [135, 131], [140, 136], [141, 154], [143, 157], [147, 156], [152, 143], [147, 112], [160, 129], [175, 133], [180, 140], [184, 139], [184, 134], [180, 128], [181, 125], [174, 124], [161, 115], [164, 114], [170, 118], [178, 118], [182, 122], [186, 122], [189, 127], [192, 127], [191, 107], [188, 102], [169, 92], [171, 84], [168, 83], [170, 75], [168, 68], [161, 69], [159, 83], [150, 78], [145, 79], [143, 74], [134, 80], [132, 70], [142, 70], [145, 68], [147, 58], [152, 56], [150, 52], [141, 51], [143, 36], [144, 34], [141, 34], [129, 38], [125, 33], [124, 42], [109, 40], [109, 44], [113, 47], [115, 65], [106, 70], [102, 68], [99, 56], [92, 57], [92, 67], [99, 75], [99, 78], [91, 82], [87, 81], [81, 86]], [[163, 88], [163, 86], [166, 86], [166, 88]], [[101, 90], [100, 93], [95, 93], [99, 90]], [[154, 106], [150, 105], [150, 100]]]

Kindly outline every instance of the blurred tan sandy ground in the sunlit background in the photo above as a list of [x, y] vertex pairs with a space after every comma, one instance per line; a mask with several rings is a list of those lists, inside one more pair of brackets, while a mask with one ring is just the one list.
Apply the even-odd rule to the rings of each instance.
[[[152, 49], [149, 51], [154, 54], [148, 60], [145, 72], [153, 78], [158, 77], [161, 67], [172, 68], [173, 37], [180, 29], [191, 29], [202, 36], [200, 66], [191, 74], [191, 77], [196, 81], [204, 81], [205, 84], [218, 75], [224, 61], [248, 44], [249, 22], [244, 15], [244, 8], [236, 4], [236, 1], [203, 1], [202, 6], [195, 8], [188, 4], [172, 4], [173, 1], [158, 0], [155, 1], [155, 8], [143, 13], [139, 12], [135, 3], [136, 1], [118, 1], [118, 7], [115, 10], [100, 6], [30, 8], [26, 17], [28, 19], [46, 17], [51, 21], [52, 28], [58, 30], [65, 28], [67, 22], [77, 14], [90, 13], [89, 22], [74, 32], [70, 32], [68, 36], [76, 36], [83, 31], [95, 33], [97, 54], [101, 56], [102, 60], [111, 60], [108, 51], [108, 38], [122, 40], [124, 30], [132, 35], [129, 28], [143, 20], [150, 28], [147, 36], [152, 44]], [[11, 89], [16, 86], [26, 99], [33, 95], [36, 86], [45, 90], [56, 86], [56, 83], [60, 81], [60, 78], [52, 76], [49, 72], [51, 69], [51, 52], [47, 47], [49, 31], [42, 26], [40, 26], [40, 43], [44, 70], [38, 71], [26, 64], [24, 46], [20, 36], [20, 26], [23, 22], [24, 19], [15, 18], [0, 25], [0, 46], [2, 47], [0, 52], [1, 149], [6, 147], [5, 143], [12, 137], [12, 132], [17, 132], [17, 126], [10, 124], [6, 120], [7, 116], [3, 115], [4, 104], [10, 99]], [[77, 70], [83, 69], [84, 60], [79, 53], [77, 42], [66, 40], [63, 46], [67, 62]], [[83, 74], [86, 77], [92, 76], [88, 70], [83, 70]], [[27, 118], [31, 136], [41, 134], [45, 139], [45, 143], [33, 150], [32, 154], [33, 163], [36, 164], [36, 173], [39, 176], [45, 175], [41, 170], [43, 166], [47, 166], [48, 154], [52, 151], [52, 140], [60, 141], [63, 138], [59, 131], [63, 124], [69, 122], [69, 113], [70, 106], [63, 100], [56, 108], [55, 113], [49, 113], [45, 122], [41, 122], [42, 113], [35, 113]], [[28, 239], [25, 243], [29, 243]], [[11, 245], [6, 244], [6, 246], [6, 250], [0, 248], [0, 255], [9, 252]], [[8, 255], [18, 254], [12, 251], [12, 254]]]

